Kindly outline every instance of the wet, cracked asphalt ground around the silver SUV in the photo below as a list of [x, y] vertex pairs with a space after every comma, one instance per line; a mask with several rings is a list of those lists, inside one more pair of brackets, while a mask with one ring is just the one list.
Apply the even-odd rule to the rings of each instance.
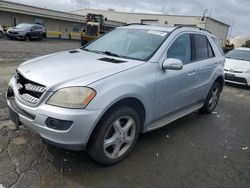
[[226, 85], [215, 112], [192, 113], [141, 135], [121, 163], [103, 167], [85, 152], [43, 144], [8, 118], [5, 91], [23, 61], [79, 41], [0, 39], [0, 187], [250, 187], [250, 89]]

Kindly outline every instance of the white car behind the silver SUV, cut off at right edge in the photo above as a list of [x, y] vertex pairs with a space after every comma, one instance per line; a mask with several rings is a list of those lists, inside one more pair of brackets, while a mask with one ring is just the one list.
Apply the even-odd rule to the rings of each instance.
[[250, 48], [236, 48], [226, 55], [225, 81], [250, 86]]

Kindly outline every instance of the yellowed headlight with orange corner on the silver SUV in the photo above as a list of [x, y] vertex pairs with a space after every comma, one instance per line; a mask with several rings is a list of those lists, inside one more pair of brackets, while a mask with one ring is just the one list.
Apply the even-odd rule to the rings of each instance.
[[64, 108], [85, 108], [96, 96], [96, 91], [88, 87], [68, 87], [56, 91], [46, 102]]

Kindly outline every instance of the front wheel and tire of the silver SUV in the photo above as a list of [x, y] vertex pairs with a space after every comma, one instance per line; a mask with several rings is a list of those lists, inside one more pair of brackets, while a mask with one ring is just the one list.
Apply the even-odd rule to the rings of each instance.
[[124, 159], [139, 135], [140, 118], [130, 107], [118, 107], [102, 118], [88, 145], [90, 156], [102, 165]]

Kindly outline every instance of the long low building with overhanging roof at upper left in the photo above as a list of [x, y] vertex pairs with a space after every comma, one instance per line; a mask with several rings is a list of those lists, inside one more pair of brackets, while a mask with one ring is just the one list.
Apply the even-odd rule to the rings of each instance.
[[[86, 24], [85, 16], [45, 8], [0, 0], [0, 25], [15, 26], [19, 23], [36, 23], [45, 26], [48, 35], [60, 35], [62, 38], [75, 36]], [[107, 26], [121, 25], [116, 21], [105, 21]]]

